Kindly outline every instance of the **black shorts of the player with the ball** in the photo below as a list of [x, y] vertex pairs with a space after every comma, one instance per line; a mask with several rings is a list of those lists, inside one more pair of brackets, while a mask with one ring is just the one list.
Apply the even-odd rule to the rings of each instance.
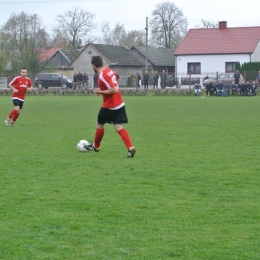
[[105, 123], [113, 123], [114, 125], [121, 125], [123, 123], [128, 123], [128, 118], [125, 111], [125, 106], [117, 109], [111, 110], [108, 108], [101, 107], [98, 113], [98, 124], [104, 125]]

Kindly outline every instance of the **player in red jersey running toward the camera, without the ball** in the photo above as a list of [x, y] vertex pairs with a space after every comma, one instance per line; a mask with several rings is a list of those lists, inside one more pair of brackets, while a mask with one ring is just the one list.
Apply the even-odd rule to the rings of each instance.
[[26, 95], [27, 89], [31, 91], [33, 89], [32, 82], [29, 78], [26, 77], [27, 70], [22, 68], [20, 71], [20, 76], [15, 77], [10, 83], [9, 87], [12, 89], [12, 100], [14, 104], [14, 109], [10, 112], [9, 116], [5, 120], [5, 125], [16, 126], [15, 121], [20, 115], [21, 109], [23, 107], [24, 98]]

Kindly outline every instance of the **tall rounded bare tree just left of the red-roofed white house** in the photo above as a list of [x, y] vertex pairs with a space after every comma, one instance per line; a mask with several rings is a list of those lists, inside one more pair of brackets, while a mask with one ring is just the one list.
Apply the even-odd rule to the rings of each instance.
[[164, 2], [152, 12], [150, 28], [152, 46], [177, 48], [187, 33], [187, 19], [174, 3]]

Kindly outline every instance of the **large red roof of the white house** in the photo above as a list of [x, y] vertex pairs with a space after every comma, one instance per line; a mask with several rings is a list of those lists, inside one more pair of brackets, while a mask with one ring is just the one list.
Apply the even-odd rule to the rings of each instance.
[[174, 54], [252, 54], [259, 41], [260, 26], [190, 29]]

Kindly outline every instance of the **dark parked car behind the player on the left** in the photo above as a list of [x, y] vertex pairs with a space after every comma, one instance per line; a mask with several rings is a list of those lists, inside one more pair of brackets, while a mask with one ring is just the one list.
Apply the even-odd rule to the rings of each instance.
[[40, 73], [35, 78], [35, 86], [42, 88], [72, 88], [73, 80], [59, 73]]

